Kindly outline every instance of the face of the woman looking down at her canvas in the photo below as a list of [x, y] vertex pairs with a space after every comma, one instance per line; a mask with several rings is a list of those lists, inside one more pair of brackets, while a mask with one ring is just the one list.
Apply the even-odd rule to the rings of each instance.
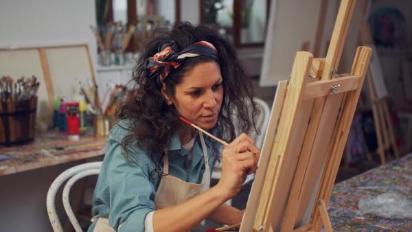
[[[165, 95], [164, 87], [162, 89]], [[174, 99], [166, 96], [182, 117], [204, 129], [213, 128], [223, 99], [220, 68], [216, 62], [204, 62], [187, 71], [176, 85]]]

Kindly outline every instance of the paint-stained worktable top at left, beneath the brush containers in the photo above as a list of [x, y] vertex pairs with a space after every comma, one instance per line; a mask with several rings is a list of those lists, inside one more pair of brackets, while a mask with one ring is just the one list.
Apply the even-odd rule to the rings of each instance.
[[25, 145], [0, 147], [0, 176], [100, 156], [105, 148], [106, 138], [88, 133], [74, 142], [67, 134], [50, 130], [36, 134], [34, 141]]

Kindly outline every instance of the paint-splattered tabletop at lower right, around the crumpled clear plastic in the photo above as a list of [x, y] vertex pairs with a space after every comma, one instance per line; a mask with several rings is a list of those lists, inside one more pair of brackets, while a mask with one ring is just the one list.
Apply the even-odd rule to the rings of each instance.
[[387, 192], [412, 200], [412, 153], [387, 165], [376, 167], [334, 185], [328, 213], [334, 231], [412, 231], [412, 220], [391, 220], [363, 215], [361, 198], [374, 198]]

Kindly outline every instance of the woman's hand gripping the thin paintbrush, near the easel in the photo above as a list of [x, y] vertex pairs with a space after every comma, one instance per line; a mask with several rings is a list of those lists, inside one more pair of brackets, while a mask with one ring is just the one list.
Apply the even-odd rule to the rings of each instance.
[[229, 198], [236, 196], [247, 175], [258, 169], [260, 149], [245, 133], [239, 135], [222, 152], [222, 176], [216, 187], [220, 187]]

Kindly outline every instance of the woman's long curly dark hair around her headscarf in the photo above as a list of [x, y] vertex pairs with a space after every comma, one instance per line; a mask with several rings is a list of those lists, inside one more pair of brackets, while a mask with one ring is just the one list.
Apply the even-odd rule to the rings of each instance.
[[[222, 75], [224, 95], [217, 124], [214, 128], [209, 129], [209, 132], [231, 142], [237, 136], [236, 131], [247, 133], [252, 126], [255, 128], [251, 118], [259, 113], [255, 102], [253, 102], [254, 92], [251, 79], [247, 76], [236, 49], [227, 40], [207, 27], [194, 26], [190, 23], [176, 23], [171, 30], [162, 28], [161, 32], [158, 33], [161, 36], [148, 43], [137, 60], [137, 65], [133, 68], [133, 79], [130, 80], [133, 83], [131, 85], [133, 96], [119, 104], [115, 112], [115, 117], [118, 120], [128, 119], [130, 122], [130, 125], [124, 128], [129, 133], [122, 139], [124, 158], [130, 163], [137, 161], [137, 156], [133, 158], [126, 150], [127, 143], [137, 141], [137, 146], [148, 148], [152, 152], [150, 158], [156, 164], [156, 169], [152, 170], [152, 176], [153, 174], [160, 176], [160, 164], [164, 156], [163, 149], [170, 143], [172, 133], [184, 123], [179, 119], [180, 115], [176, 109], [168, 106], [161, 94], [161, 86], [154, 80], [155, 78], [149, 78], [150, 73], [146, 70], [147, 58], [158, 52], [161, 43], [173, 40], [175, 45], [172, 49], [176, 52], [199, 41], [207, 41], [216, 47], [218, 60], [208, 56], [187, 58], [179, 68], [170, 71], [164, 80], [168, 96], [174, 98], [176, 84], [182, 81], [184, 73], [202, 62], [218, 63]], [[237, 120], [233, 121], [233, 118], [237, 118]], [[213, 152], [211, 153], [219, 161], [218, 148], [220, 144], [209, 137], [205, 139], [212, 143]]]

